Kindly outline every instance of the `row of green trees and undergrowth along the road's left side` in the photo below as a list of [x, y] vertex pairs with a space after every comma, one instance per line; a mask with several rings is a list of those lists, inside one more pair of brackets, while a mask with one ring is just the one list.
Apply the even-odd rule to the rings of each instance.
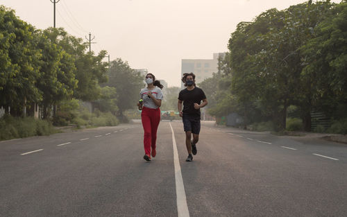
[[0, 139], [128, 121], [144, 79], [128, 62], [105, 62], [106, 51], [90, 52], [63, 28], [37, 29], [5, 6], [0, 20]]

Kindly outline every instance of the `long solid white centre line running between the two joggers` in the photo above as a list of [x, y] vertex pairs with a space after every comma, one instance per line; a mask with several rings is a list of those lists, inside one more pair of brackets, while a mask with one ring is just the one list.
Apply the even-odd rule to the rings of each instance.
[[[169, 123], [172, 132], [172, 146], [174, 148], [174, 167], [175, 167], [175, 181], [176, 181], [176, 199], [178, 217], [189, 217], [189, 210], [187, 206], [187, 198], [185, 197], [185, 185], [183, 184], [183, 177], [180, 171], [180, 160], [178, 158], [178, 150], [176, 145], [174, 129]], [[188, 163], [189, 164], [189, 163]]]

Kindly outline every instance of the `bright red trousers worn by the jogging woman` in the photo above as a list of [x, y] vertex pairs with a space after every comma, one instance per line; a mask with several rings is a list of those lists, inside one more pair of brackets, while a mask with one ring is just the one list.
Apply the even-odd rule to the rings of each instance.
[[141, 113], [142, 126], [144, 127], [144, 153], [151, 156], [151, 147], [155, 149], [157, 130], [160, 122], [160, 109], [143, 107]]

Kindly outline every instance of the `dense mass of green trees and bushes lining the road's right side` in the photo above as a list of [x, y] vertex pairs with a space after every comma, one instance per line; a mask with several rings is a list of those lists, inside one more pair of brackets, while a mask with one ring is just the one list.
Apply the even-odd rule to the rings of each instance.
[[[200, 83], [208, 112], [252, 130], [347, 133], [347, 1], [262, 12], [231, 34], [219, 71]], [[223, 121], [225, 123], [225, 121]]]

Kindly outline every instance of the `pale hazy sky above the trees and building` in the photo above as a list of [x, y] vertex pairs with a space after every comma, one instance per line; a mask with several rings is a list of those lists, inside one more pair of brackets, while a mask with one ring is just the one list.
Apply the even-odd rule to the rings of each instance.
[[[53, 1], [53, 0], [51, 0]], [[53, 26], [50, 0], [0, 0], [36, 28]], [[58, 0], [56, 0], [58, 1]], [[71, 35], [95, 36], [92, 51], [104, 49], [133, 69], [149, 69], [180, 87], [182, 59], [212, 59], [228, 51], [230, 33], [270, 8], [304, 0], [60, 0], [56, 27]], [[334, 2], [339, 3], [340, 0]], [[105, 58], [105, 60], [107, 60]]]

